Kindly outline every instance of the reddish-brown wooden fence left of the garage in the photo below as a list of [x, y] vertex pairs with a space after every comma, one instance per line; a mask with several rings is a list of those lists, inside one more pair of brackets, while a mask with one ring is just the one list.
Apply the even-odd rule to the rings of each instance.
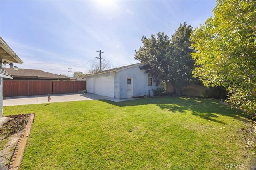
[[77, 93], [85, 81], [3, 80], [3, 97]]

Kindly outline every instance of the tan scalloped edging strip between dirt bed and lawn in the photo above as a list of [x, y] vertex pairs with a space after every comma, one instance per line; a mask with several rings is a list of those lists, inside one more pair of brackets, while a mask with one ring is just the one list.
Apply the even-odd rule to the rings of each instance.
[[[8, 117], [15, 117], [15, 116], [16, 115], [10, 115]], [[21, 159], [24, 154], [24, 150], [25, 150], [25, 147], [26, 147], [26, 144], [28, 141], [28, 137], [29, 137], [29, 134], [30, 134], [33, 122], [34, 122], [34, 117], [35, 117], [34, 113], [30, 114], [27, 125], [24, 128], [24, 130], [20, 136], [20, 139], [16, 145], [14, 153], [12, 155], [12, 160], [10, 162], [8, 170], [18, 170], [18, 168], [20, 167]]]

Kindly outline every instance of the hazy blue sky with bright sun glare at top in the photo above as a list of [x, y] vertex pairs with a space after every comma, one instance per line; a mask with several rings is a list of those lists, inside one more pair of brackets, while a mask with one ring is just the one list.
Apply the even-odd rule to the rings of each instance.
[[0, 35], [23, 60], [14, 64], [19, 68], [86, 73], [100, 50], [112, 68], [139, 63], [134, 50], [143, 35], [171, 36], [184, 22], [199, 27], [215, 6], [216, 1], [1, 0]]

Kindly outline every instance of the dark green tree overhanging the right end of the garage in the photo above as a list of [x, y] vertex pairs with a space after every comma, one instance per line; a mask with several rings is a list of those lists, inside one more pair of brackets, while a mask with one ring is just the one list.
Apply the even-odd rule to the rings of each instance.
[[150, 38], [142, 37], [143, 47], [135, 50], [135, 59], [146, 64], [141, 67], [159, 84], [162, 80], [171, 82], [178, 89], [192, 78], [194, 60], [190, 53], [191, 25], [180, 24], [172, 38], [158, 32]]

